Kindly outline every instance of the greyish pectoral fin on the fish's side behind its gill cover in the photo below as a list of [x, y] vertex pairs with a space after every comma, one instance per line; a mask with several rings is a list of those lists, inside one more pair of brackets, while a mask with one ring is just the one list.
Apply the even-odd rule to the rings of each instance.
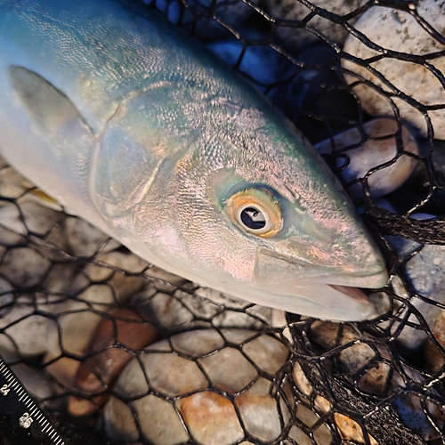
[[57, 140], [61, 132], [66, 134], [79, 124], [92, 133], [76, 105], [44, 77], [16, 65], [8, 67], [8, 75], [29, 116], [46, 136]]

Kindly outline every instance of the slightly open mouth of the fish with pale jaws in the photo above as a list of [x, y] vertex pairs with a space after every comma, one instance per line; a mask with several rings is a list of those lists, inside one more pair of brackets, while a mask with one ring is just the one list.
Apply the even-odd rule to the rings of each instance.
[[376, 308], [358, 287], [376, 289], [387, 282], [384, 267], [371, 266], [368, 273], [329, 269], [289, 262], [262, 249], [256, 257], [255, 283], [275, 295], [273, 305], [287, 312], [325, 320], [368, 320], [377, 315]]

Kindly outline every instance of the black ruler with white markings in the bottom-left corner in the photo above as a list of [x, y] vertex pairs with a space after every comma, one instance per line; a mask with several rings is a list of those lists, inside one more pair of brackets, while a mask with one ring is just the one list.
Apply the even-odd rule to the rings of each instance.
[[19, 379], [0, 359], [0, 443], [4, 445], [67, 445], [31, 399]]

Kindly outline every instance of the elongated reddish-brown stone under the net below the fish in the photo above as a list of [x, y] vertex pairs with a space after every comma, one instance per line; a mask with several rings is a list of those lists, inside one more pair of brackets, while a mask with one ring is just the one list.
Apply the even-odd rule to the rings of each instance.
[[108, 313], [111, 318], [101, 320], [85, 354], [90, 357], [77, 370], [75, 387], [85, 398], [69, 396], [68, 409], [73, 417], [92, 416], [107, 401], [107, 387], [134, 357], [126, 348], [140, 350], [158, 338], [158, 330], [133, 310], [116, 308]]

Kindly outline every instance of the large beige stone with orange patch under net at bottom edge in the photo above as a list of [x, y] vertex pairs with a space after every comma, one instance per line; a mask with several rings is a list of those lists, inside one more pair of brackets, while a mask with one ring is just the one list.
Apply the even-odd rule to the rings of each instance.
[[[129, 404], [140, 425], [150, 424], [142, 426], [146, 440], [172, 445], [187, 441], [183, 422], [198, 443], [230, 445], [244, 438], [237, 410], [246, 431], [258, 440], [279, 437], [279, 401], [272, 395], [273, 384], [258, 376], [258, 369], [266, 375], [276, 373], [287, 362], [287, 346], [252, 330], [220, 332], [192, 330], [161, 340], [124, 368], [115, 392], [132, 399]], [[105, 405], [104, 418], [110, 439], [139, 437], [131, 410], [117, 397]], [[170, 425], [168, 431], [161, 425]]]

